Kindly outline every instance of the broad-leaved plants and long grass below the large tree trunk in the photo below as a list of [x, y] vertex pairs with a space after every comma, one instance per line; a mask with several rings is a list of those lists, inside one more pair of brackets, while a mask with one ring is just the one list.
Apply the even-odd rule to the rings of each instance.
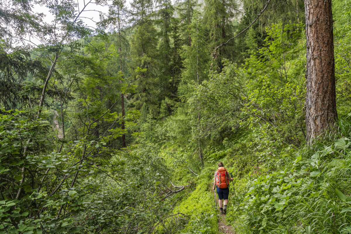
[[251, 181], [243, 202], [253, 233], [350, 233], [351, 124], [340, 121], [314, 149], [305, 148], [282, 171]]

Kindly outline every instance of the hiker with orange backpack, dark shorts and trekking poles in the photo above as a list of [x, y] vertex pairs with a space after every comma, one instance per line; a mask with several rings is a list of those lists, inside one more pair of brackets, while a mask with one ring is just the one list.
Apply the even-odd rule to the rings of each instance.
[[223, 167], [223, 162], [219, 162], [218, 169], [214, 173], [213, 190], [217, 187], [216, 191], [218, 194], [218, 203], [221, 214], [226, 214], [229, 196], [229, 183], [233, 180], [234, 179], [230, 177], [230, 174]]

